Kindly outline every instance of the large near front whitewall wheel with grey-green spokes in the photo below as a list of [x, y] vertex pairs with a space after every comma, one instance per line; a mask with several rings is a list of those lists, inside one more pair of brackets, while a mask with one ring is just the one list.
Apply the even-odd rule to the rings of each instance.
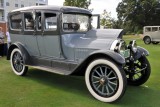
[[[101, 66], [101, 65], [102, 65], [102, 68], [101, 67], [98, 68], [98, 66]], [[106, 67], [111, 68], [110, 72], [114, 71], [113, 74], [110, 74], [110, 75], [113, 75], [112, 79], [115, 78], [115, 80], [114, 80], [115, 82], [114, 83], [112, 82], [112, 84], [115, 84], [115, 86], [111, 87], [111, 89], [115, 88], [113, 90], [113, 94], [109, 93], [109, 91], [107, 89], [107, 87], [111, 83], [110, 82], [111, 78], [109, 77], [110, 75], [107, 74], [106, 71], [104, 71], [103, 66], [105, 67], [105, 65], [106, 65]], [[100, 69], [100, 70], [98, 71], [98, 69]], [[100, 71], [103, 71], [103, 72], [100, 72]], [[109, 71], [109, 69], [108, 69], [108, 71]], [[99, 75], [97, 74], [97, 72], [99, 72]], [[97, 74], [97, 76], [95, 74]], [[100, 75], [102, 77], [100, 77]], [[103, 78], [103, 75], [106, 75], [106, 76], [104, 76], [104, 78]], [[115, 77], [114, 77], [114, 75], [115, 75]], [[97, 77], [100, 78], [100, 80]], [[99, 84], [97, 85], [98, 87], [96, 85], [94, 85], [94, 84], [96, 84], [96, 81], [93, 81], [92, 78], [98, 79], [97, 84], [99, 83], [101, 85], [100, 87], [102, 87], [102, 89], [98, 89]], [[92, 81], [93, 81], [93, 83], [92, 83]], [[96, 99], [98, 99], [102, 102], [117, 101], [118, 99], [120, 99], [123, 96], [123, 94], [126, 90], [126, 86], [127, 86], [127, 79], [126, 79], [125, 72], [121, 68], [119, 68], [117, 65], [115, 65], [113, 62], [106, 60], [106, 59], [97, 59], [89, 64], [89, 66], [86, 69], [86, 73], [85, 73], [85, 82], [86, 82], [86, 85], [87, 85], [89, 92]], [[104, 87], [106, 87], [106, 89]], [[111, 91], [111, 89], [110, 89], [110, 91]]]

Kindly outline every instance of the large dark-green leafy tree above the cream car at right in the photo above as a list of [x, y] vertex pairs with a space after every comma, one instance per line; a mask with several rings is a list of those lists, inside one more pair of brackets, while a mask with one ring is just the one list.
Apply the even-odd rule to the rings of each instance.
[[142, 31], [144, 26], [160, 25], [158, 0], [122, 0], [117, 7], [118, 19], [132, 32]]

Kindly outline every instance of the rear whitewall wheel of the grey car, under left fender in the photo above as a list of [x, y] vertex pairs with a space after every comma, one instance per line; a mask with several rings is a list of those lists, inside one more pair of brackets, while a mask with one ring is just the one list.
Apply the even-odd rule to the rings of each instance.
[[13, 72], [18, 76], [23, 76], [28, 71], [28, 67], [23, 64], [23, 56], [18, 48], [11, 52], [10, 63]]

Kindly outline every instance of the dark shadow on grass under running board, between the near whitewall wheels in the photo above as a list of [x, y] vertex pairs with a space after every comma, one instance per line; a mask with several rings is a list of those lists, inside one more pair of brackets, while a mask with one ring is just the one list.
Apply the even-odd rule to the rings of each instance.
[[82, 76], [65, 76], [38, 69], [29, 69], [26, 78], [47, 85], [49, 87], [54, 87], [59, 90], [64, 90], [71, 93], [77, 91], [78, 93], [84, 95], [88, 93], [84, 77]]

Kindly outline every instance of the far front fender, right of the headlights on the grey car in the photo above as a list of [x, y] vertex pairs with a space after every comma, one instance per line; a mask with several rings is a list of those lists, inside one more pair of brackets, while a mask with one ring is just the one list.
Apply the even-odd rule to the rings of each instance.
[[134, 59], [137, 60], [141, 56], [149, 56], [149, 52], [145, 48], [142, 48], [142, 47], [138, 46], [137, 47], [137, 52], [134, 55]]

